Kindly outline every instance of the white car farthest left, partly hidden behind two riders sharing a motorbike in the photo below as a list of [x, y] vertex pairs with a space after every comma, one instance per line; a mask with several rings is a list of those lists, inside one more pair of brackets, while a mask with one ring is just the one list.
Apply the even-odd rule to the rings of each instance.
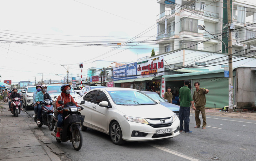
[[21, 95], [23, 96], [23, 108], [30, 110], [34, 108], [31, 105], [33, 104], [33, 94], [36, 92], [36, 86], [27, 86], [23, 91], [21, 90]]

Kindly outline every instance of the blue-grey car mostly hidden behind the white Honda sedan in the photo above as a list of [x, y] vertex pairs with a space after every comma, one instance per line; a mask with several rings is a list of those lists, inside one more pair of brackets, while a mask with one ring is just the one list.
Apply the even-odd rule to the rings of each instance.
[[150, 91], [142, 91], [142, 92], [148, 95], [149, 97], [151, 97], [153, 100], [159, 100], [160, 104], [167, 107], [169, 110], [173, 111], [179, 117], [180, 106], [173, 103], [169, 103], [167, 100], [164, 100], [163, 97], [161, 97], [159, 94], [155, 92], [150, 92]]

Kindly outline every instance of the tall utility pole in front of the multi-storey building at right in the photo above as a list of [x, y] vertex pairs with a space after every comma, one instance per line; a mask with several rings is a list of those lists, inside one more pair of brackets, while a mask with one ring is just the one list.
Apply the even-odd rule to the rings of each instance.
[[231, 38], [231, 11], [230, 0], [227, 0], [228, 5], [228, 66], [229, 66], [229, 78], [228, 78], [228, 111], [233, 112], [233, 64], [232, 64], [232, 38]]

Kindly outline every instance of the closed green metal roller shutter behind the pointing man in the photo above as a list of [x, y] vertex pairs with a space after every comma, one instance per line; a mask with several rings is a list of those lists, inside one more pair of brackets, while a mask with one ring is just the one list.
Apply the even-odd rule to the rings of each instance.
[[[222, 109], [224, 106], [228, 106], [228, 78], [208, 78], [208, 79], [193, 79], [192, 97], [194, 94], [195, 82], [200, 83], [200, 88], [209, 89], [209, 93], [206, 94], [206, 108]], [[234, 77], [233, 77], [234, 87]], [[233, 88], [234, 98], [234, 88]], [[234, 99], [233, 99], [234, 100]]]

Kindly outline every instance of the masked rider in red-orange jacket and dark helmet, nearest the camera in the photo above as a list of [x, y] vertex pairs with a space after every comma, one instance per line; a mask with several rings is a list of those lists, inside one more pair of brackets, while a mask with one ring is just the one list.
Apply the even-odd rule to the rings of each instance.
[[[75, 103], [74, 99], [72, 96], [70, 96], [70, 91], [71, 91], [71, 87], [68, 84], [64, 84], [61, 86], [60, 88], [61, 90], [61, 94], [58, 96], [57, 101], [56, 101], [56, 109], [58, 109], [58, 123], [57, 123], [57, 133], [56, 133], [56, 137], [60, 137], [60, 128], [62, 126], [62, 122], [63, 122], [63, 111], [62, 111], [62, 107], [65, 106], [66, 103], [68, 102], [73, 102]], [[59, 104], [58, 101], [61, 100], [63, 101], [64, 104]], [[80, 107], [78, 104], [76, 104], [76, 107]]]

